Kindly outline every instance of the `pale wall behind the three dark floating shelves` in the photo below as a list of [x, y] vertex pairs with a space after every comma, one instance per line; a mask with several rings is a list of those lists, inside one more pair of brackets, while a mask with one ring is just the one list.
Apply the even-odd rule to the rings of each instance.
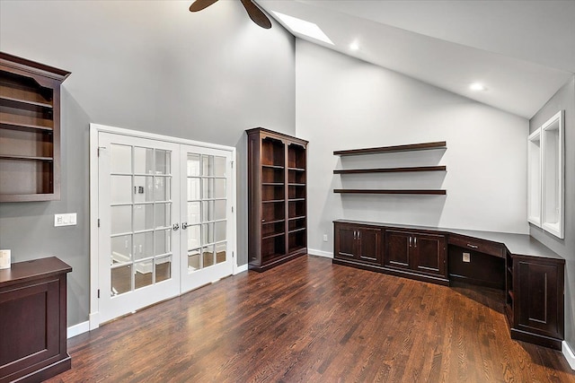
[[[311, 249], [332, 252], [338, 218], [528, 231], [525, 118], [296, 39], [296, 134], [310, 141]], [[447, 151], [355, 159], [332, 153], [433, 141], [447, 141]], [[447, 172], [334, 175], [341, 162], [345, 168], [443, 164]], [[332, 189], [342, 185], [445, 188], [447, 196], [335, 195]]]

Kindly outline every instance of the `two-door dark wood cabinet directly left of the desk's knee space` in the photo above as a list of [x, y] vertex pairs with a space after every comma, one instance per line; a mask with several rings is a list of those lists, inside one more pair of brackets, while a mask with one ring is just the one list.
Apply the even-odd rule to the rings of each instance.
[[446, 237], [420, 231], [385, 231], [384, 265], [397, 271], [439, 277], [447, 283]]

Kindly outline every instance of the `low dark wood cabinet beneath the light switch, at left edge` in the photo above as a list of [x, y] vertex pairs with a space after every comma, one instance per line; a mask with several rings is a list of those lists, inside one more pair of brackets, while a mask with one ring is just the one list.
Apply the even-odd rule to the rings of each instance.
[[0, 270], [0, 382], [38, 382], [71, 367], [66, 273], [57, 257]]

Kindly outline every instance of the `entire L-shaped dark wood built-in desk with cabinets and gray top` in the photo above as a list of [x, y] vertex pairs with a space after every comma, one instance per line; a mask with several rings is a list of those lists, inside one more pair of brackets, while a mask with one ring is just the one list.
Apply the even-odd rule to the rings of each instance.
[[511, 337], [561, 350], [565, 260], [526, 234], [336, 220], [333, 263], [505, 290]]

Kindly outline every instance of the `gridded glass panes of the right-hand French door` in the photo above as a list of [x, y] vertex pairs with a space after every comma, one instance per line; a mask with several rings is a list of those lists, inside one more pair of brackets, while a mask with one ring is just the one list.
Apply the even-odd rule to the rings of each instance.
[[187, 156], [188, 274], [226, 262], [226, 157]]

